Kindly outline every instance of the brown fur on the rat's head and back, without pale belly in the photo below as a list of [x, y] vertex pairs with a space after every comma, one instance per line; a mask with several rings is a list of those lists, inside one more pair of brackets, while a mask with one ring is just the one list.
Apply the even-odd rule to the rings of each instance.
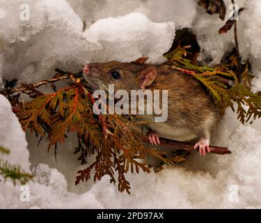
[[[116, 91], [125, 89], [129, 92], [141, 89], [141, 79], [138, 77], [143, 70], [156, 68], [157, 77], [147, 89], [168, 90], [168, 120], [166, 123], [154, 123], [150, 126], [152, 130], [157, 132], [159, 125], [161, 128], [171, 128], [174, 132], [179, 128], [186, 128], [197, 138], [209, 139], [212, 126], [219, 117], [218, 110], [209, 94], [190, 75], [177, 72], [164, 64], [111, 61], [92, 63], [89, 66], [90, 74], [86, 79], [93, 89], [104, 89], [104, 86], [114, 84]], [[120, 72], [120, 79], [111, 77], [113, 70]]]

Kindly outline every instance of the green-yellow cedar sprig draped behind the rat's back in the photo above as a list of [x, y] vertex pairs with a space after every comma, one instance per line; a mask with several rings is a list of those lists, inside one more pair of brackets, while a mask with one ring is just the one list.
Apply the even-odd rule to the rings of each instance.
[[[237, 118], [246, 123], [251, 118], [261, 117], [261, 95], [253, 93], [244, 83], [239, 83], [237, 75], [230, 70], [229, 66], [195, 66], [188, 59], [184, 59], [186, 49], [177, 47], [173, 52], [164, 56], [168, 59], [167, 64], [175, 70], [187, 75], [192, 75], [202, 83], [213, 96], [221, 115], [230, 107], [235, 112], [237, 105]], [[224, 79], [233, 82], [232, 86], [224, 83]]]

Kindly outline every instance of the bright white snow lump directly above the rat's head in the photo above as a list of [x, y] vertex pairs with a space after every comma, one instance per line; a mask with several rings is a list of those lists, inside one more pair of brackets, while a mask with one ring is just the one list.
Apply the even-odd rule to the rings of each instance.
[[155, 23], [141, 13], [131, 13], [95, 22], [84, 33], [84, 37], [110, 60], [124, 58], [125, 61], [132, 61], [139, 56], [150, 56], [151, 61], [162, 61], [161, 55], [173, 43], [175, 24]]

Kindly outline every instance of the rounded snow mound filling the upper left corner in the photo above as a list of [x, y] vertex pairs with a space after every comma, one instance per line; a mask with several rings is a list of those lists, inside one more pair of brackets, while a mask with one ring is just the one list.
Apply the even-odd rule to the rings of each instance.
[[55, 4], [52, 0], [1, 0], [1, 7], [0, 35], [10, 43], [29, 40], [32, 35], [44, 29], [79, 33], [83, 26], [65, 0], [57, 0]]

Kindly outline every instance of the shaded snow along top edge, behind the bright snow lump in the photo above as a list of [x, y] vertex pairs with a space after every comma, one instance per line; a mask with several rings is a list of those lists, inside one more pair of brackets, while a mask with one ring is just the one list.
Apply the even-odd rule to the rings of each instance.
[[[173, 21], [177, 29], [190, 27], [196, 15], [195, 0], [68, 0], [86, 25], [106, 17], [143, 13], [153, 22]], [[184, 13], [187, 12], [187, 13]]]

